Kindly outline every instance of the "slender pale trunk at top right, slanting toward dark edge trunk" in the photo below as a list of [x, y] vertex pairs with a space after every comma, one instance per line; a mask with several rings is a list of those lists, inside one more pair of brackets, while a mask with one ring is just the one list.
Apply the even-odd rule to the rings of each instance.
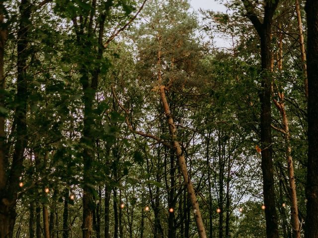
[[304, 34], [303, 34], [303, 23], [302, 23], [302, 15], [300, 11], [299, 0], [295, 0], [295, 8], [297, 15], [297, 23], [298, 23], [298, 35], [299, 35], [299, 47], [301, 53], [302, 67], [304, 72], [304, 86], [305, 86], [305, 95], [308, 99], [308, 79], [307, 79], [307, 59], [306, 59], [306, 50], [305, 50], [305, 42], [304, 42]]

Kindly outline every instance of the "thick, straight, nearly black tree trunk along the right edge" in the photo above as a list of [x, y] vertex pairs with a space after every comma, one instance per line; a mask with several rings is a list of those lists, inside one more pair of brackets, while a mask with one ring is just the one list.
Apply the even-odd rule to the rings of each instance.
[[308, 166], [305, 238], [318, 237], [318, 1], [307, 0]]

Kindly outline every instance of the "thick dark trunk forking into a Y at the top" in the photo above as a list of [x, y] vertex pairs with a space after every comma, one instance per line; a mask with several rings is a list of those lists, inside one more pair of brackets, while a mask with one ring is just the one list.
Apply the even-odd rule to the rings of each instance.
[[261, 48], [261, 90], [259, 99], [261, 104], [260, 113], [260, 142], [261, 142], [261, 167], [263, 175], [263, 195], [265, 205], [266, 236], [278, 238], [278, 222], [275, 207], [275, 188], [272, 160], [272, 133], [271, 133], [271, 25], [272, 19], [279, 0], [266, 0], [264, 5], [263, 22], [258, 19], [254, 7], [250, 1], [242, 0], [246, 16], [255, 27]]

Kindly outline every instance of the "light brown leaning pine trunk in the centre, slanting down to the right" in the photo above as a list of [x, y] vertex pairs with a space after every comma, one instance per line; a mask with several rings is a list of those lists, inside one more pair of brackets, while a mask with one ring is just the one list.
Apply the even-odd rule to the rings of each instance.
[[[159, 44], [160, 43], [160, 38], [159, 37]], [[197, 225], [197, 230], [198, 230], [198, 234], [200, 238], [206, 238], [206, 233], [205, 233], [205, 228], [204, 228], [204, 224], [202, 221], [202, 216], [201, 216], [201, 212], [200, 212], [200, 208], [199, 208], [199, 204], [196, 198], [196, 194], [194, 191], [194, 187], [193, 184], [191, 182], [191, 179], [188, 175], [188, 170], [185, 164], [185, 159], [182, 153], [182, 149], [180, 146], [179, 141], [177, 140], [177, 135], [176, 135], [176, 126], [174, 124], [173, 121], [173, 117], [171, 115], [170, 112], [170, 108], [169, 108], [169, 104], [167, 102], [166, 96], [165, 96], [165, 86], [162, 85], [162, 79], [161, 79], [161, 70], [160, 70], [160, 65], [161, 65], [161, 51], [158, 51], [158, 82], [159, 82], [159, 95], [160, 95], [160, 99], [161, 99], [161, 103], [162, 103], [162, 107], [163, 107], [163, 111], [164, 114], [166, 116], [167, 119], [167, 123], [169, 126], [169, 133], [171, 136], [171, 140], [172, 140], [172, 145], [175, 149], [175, 155], [178, 158], [178, 164], [180, 167], [180, 172], [183, 176], [183, 179], [185, 181], [186, 184], [186, 188], [190, 197], [190, 201], [191, 201], [191, 205], [194, 211], [194, 219]]]

